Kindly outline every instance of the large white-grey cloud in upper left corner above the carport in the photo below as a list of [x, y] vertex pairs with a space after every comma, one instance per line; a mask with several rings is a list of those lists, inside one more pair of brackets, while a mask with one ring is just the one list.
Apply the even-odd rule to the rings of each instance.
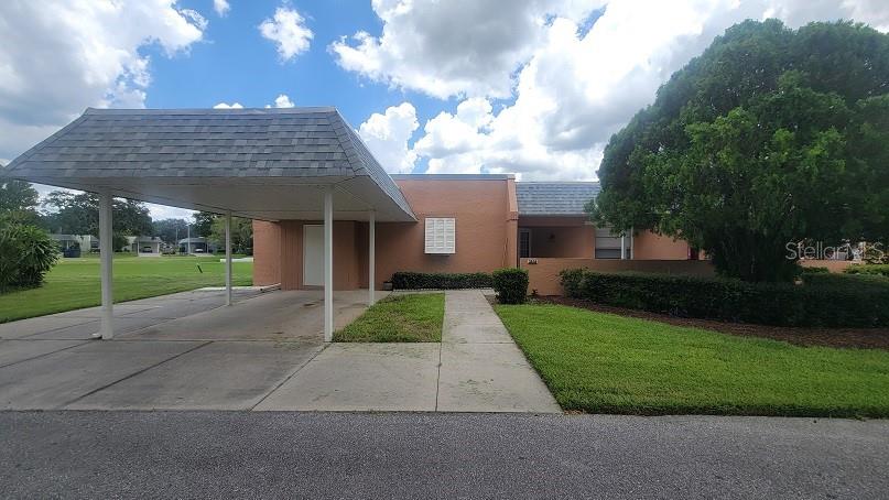
[[173, 0], [0, 2], [0, 155], [14, 156], [86, 107], [143, 107], [158, 44], [199, 41], [206, 20]]

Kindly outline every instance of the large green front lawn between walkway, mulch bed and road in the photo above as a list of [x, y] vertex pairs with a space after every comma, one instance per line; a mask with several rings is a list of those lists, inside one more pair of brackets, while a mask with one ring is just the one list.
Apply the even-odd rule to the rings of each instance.
[[889, 352], [798, 347], [561, 305], [498, 305], [564, 410], [889, 417]]

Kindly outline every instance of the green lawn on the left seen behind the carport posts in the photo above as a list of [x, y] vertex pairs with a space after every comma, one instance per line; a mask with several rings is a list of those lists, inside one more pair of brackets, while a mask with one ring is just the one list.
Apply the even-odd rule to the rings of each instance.
[[[198, 270], [198, 265], [200, 270]], [[252, 283], [252, 262], [232, 263], [236, 285]], [[202, 272], [203, 271], [203, 272]], [[219, 257], [115, 256], [115, 302], [225, 284]], [[62, 259], [39, 289], [0, 295], [0, 323], [59, 313], [101, 303], [99, 259]]]

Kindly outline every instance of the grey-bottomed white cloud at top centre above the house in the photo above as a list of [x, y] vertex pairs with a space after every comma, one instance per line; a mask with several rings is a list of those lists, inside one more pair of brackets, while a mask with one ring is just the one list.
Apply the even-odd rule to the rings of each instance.
[[513, 72], [560, 14], [581, 20], [599, 1], [373, 0], [382, 34], [359, 31], [330, 44], [345, 69], [430, 96], [509, 97]]

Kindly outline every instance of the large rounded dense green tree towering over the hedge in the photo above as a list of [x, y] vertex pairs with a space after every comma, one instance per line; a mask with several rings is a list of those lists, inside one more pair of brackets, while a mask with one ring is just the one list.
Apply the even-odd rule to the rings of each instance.
[[747, 21], [611, 138], [588, 210], [684, 238], [724, 275], [787, 280], [788, 242], [889, 237], [886, 144], [889, 35]]

